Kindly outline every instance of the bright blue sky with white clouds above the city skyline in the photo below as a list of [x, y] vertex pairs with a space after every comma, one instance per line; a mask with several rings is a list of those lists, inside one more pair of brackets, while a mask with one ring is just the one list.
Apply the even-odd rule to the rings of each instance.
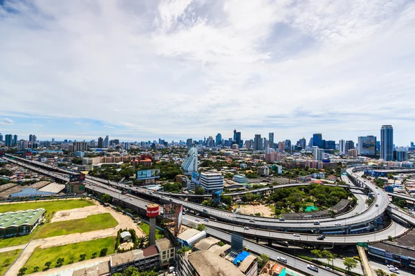
[[414, 0], [0, 0], [0, 37], [19, 139], [415, 140]]

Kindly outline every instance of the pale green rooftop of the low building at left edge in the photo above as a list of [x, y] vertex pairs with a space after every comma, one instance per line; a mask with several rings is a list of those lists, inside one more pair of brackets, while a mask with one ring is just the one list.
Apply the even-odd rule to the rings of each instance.
[[0, 229], [31, 225], [45, 213], [44, 208], [0, 214]]

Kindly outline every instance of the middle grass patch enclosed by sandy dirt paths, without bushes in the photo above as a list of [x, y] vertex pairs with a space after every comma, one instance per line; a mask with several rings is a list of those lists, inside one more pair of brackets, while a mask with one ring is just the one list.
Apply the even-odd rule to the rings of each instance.
[[118, 222], [110, 213], [90, 215], [84, 219], [57, 221], [46, 224], [42, 228], [42, 231], [37, 234], [36, 239], [113, 228], [117, 226], [117, 224]]

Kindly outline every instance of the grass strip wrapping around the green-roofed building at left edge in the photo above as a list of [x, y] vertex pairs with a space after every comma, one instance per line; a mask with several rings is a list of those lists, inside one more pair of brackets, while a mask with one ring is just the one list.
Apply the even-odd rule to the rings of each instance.
[[[46, 219], [50, 220], [53, 214], [59, 210], [70, 210], [74, 208], [82, 208], [91, 206], [91, 201], [83, 199], [72, 199], [72, 200], [53, 200], [53, 201], [33, 201], [28, 203], [16, 203], [16, 204], [0, 204], [0, 213], [15, 212], [19, 210], [29, 210], [37, 208], [46, 209]], [[46, 224], [45, 226], [47, 226]], [[19, 244], [26, 244], [32, 239], [37, 232], [42, 232], [45, 226], [38, 226], [30, 235], [21, 237], [10, 237], [8, 239], [0, 239], [0, 248], [8, 246], [18, 246]]]

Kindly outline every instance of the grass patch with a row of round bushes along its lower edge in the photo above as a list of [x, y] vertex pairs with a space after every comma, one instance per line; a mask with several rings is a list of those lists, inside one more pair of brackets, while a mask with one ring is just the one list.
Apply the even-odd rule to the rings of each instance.
[[28, 259], [28, 262], [24, 264], [24, 267], [28, 268], [26, 274], [33, 273], [35, 266], [39, 266], [39, 271], [44, 270], [46, 268], [46, 262], [52, 262], [50, 268], [55, 268], [58, 258], [64, 258], [62, 265], [65, 266], [71, 262], [80, 262], [81, 254], [86, 254], [85, 259], [92, 259], [92, 254], [96, 252], [97, 257], [99, 257], [102, 248], [108, 248], [107, 255], [113, 254], [115, 252], [114, 246], [116, 246], [115, 237], [106, 237], [104, 239], [93, 239], [89, 242], [79, 242], [65, 246], [55, 246], [45, 249], [36, 248]]

